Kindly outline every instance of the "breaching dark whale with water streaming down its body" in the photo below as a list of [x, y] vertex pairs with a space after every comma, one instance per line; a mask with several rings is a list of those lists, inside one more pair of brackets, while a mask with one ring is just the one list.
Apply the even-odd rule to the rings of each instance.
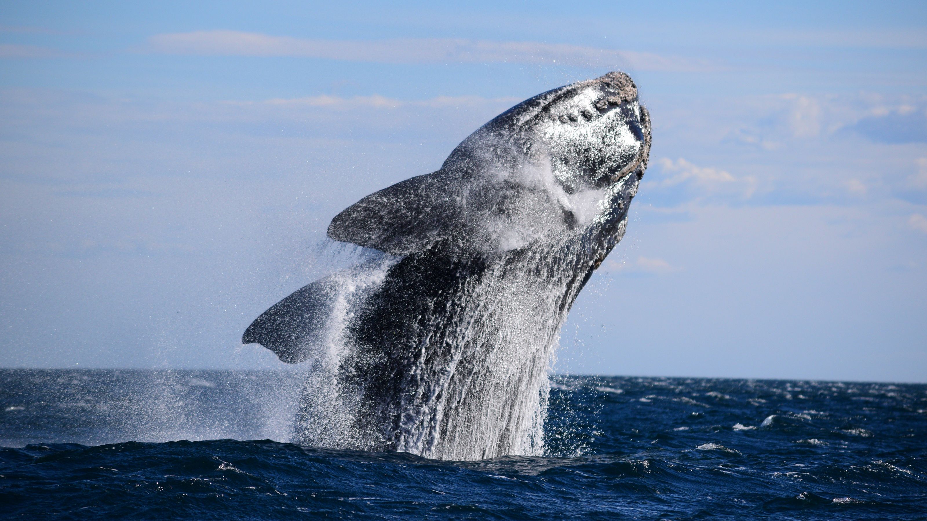
[[305, 286], [242, 341], [309, 362], [295, 440], [474, 460], [540, 454], [560, 327], [625, 233], [650, 151], [628, 75], [536, 95], [440, 170], [339, 213], [383, 253]]

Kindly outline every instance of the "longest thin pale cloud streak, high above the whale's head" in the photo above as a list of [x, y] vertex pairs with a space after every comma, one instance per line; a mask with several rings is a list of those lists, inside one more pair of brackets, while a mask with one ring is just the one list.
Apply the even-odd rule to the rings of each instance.
[[322, 40], [257, 32], [197, 31], [158, 34], [146, 50], [162, 54], [316, 57], [379, 63], [562, 63], [635, 70], [712, 70], [704, 60], [573, 44], [495, 42], [459, 38]]

